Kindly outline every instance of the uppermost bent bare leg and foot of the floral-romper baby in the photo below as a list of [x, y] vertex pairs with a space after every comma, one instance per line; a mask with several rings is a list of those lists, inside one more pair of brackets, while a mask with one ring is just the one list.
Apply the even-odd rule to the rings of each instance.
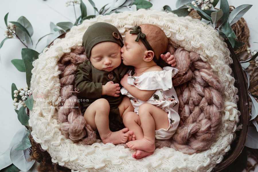
[[139, 116], [144, 137], [141, 140], [130, 141], [126, 145], [131, 149], [153, 152], [155, 150], [155, 129], [169, 127], [167, 113], [155, 105], [143, 103], [139, 107]]

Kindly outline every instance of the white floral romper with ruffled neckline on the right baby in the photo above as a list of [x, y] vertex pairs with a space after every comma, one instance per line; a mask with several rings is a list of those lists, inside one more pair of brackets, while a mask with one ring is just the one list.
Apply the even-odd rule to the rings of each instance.
[[[145, 72], [139, 77], [131, 75], [132, 70], [128, 71], [128, 84], [134, 85], [140, 90], [156, 90], [155, 93], [147, 101], [141, 101], [133, 97], [124, 87], [120, 90], [123, 95], [129, 97], [134, 107], [134, 112], [138, 114], [139, 107], [142, 103], [150, 103], [160, 107], [167, 112], [169, 120], [169, 128], [159, 129], [155, 131], [156, 139], [169, 139], [175, 133], [179, 125], [178, 107], [179, 101], [177, 94], [172, 85], [172, 77], [178, 72], [173, 67], [163, 67], [163, 71]], [[139, 115], [139, 114], [138, 114]]]

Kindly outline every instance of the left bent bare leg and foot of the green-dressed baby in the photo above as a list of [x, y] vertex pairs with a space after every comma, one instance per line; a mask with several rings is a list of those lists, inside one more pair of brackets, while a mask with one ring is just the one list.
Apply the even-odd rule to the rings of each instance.
[[110, 105], [106, 99], [97, 99], [86, 109], [84, 118], [93, 130], [98, 130], [103, 143], [125, 143], [128, 140], [128, 128], [117, 132], [109, 129]]

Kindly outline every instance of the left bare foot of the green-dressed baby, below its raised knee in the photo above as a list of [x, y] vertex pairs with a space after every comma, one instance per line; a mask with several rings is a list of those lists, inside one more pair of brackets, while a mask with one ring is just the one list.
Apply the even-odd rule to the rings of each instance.
[[123, 128], [122, 130], [108, 133], [106, 136], [102, 136], [101, 140], [103, 143], [125, 143], [128, 140], [129, 134], [127, 134], [128, 128]]

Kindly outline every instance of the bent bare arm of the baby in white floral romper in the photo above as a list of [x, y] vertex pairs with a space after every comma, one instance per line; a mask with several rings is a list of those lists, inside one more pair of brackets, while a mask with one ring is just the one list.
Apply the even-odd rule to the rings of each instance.
[[140, 90], [134, 85], [129, 85], [127, 83], [128, 74], [124, 75], [124, 77], [121, 79], [120, 83], [121, 85], [134, 97], [137, 99], [140, 99], [142, 101], [147, 101], [156, 90]]

